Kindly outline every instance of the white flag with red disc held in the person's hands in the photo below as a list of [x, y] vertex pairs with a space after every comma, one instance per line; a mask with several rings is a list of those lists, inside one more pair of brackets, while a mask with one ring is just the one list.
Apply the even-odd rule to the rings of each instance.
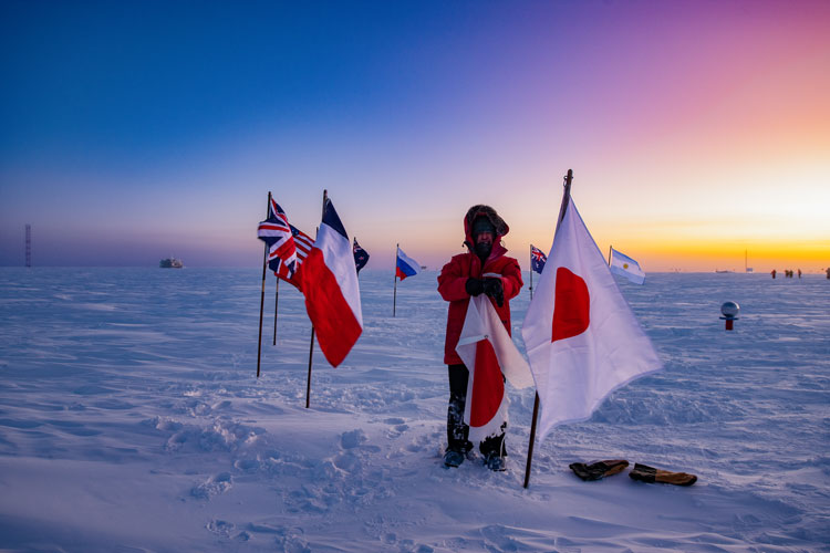
[[489, 298], [471, 298], [456, 352], [469, 371], [464, 421], [469, 439], [483, 441], [504, 431], [509, 399], [502, 374], [516, 388], [533, 384], [525, 357], [516, 348]]

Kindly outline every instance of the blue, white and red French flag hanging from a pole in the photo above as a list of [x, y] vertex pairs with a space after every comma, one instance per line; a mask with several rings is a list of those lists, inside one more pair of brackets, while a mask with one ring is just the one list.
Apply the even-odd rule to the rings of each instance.
[[352, 244], [328, 198], [317, 240], [300, 271], [305, 311], [323, 355], [336, 367], [363, 332], [363, 313]]

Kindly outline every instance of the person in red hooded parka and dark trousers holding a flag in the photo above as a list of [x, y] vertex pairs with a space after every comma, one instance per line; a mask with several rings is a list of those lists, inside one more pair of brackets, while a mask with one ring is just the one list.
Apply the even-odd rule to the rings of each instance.
[[[467, 439], [469, 427], [464, 424], [469, 372], [455, 351], [467, 315], [469, 299], [485, 294], [490, 298], [501, 323], [510, 333], [510, 300], [519, 294], [523, 284], [519, 262], [505, 255], [507, 249], [501, 238], [509, 228], [495, 209], [473, 206], [464, 217], [464, 244], [467, 253], [454, 255], [438, 275], [438, 292], [449, 302], [444, 363], [449, 373], [449, 407], [447, 409], [447, 449], [444, 463], [458, 467], [473, 449]], [[479, 445], [485, 463], [491, 470], [505, 470], [505, 430]]]

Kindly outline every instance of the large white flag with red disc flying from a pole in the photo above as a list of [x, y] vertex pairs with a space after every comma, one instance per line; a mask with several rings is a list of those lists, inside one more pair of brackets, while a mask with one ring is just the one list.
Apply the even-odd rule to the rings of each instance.
[[571, 199], [521, 328], [539, 432], [584, 420], [614, 389], [662, 368]]

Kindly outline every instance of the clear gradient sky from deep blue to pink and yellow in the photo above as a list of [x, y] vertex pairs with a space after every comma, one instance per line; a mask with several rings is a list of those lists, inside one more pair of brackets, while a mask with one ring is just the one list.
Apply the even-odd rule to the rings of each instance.
[[649, 271], [830, 265], [830, 2], [0, 2], [0, 265], [257, 267], [323, 189], [392, 271], [562, 177]]

